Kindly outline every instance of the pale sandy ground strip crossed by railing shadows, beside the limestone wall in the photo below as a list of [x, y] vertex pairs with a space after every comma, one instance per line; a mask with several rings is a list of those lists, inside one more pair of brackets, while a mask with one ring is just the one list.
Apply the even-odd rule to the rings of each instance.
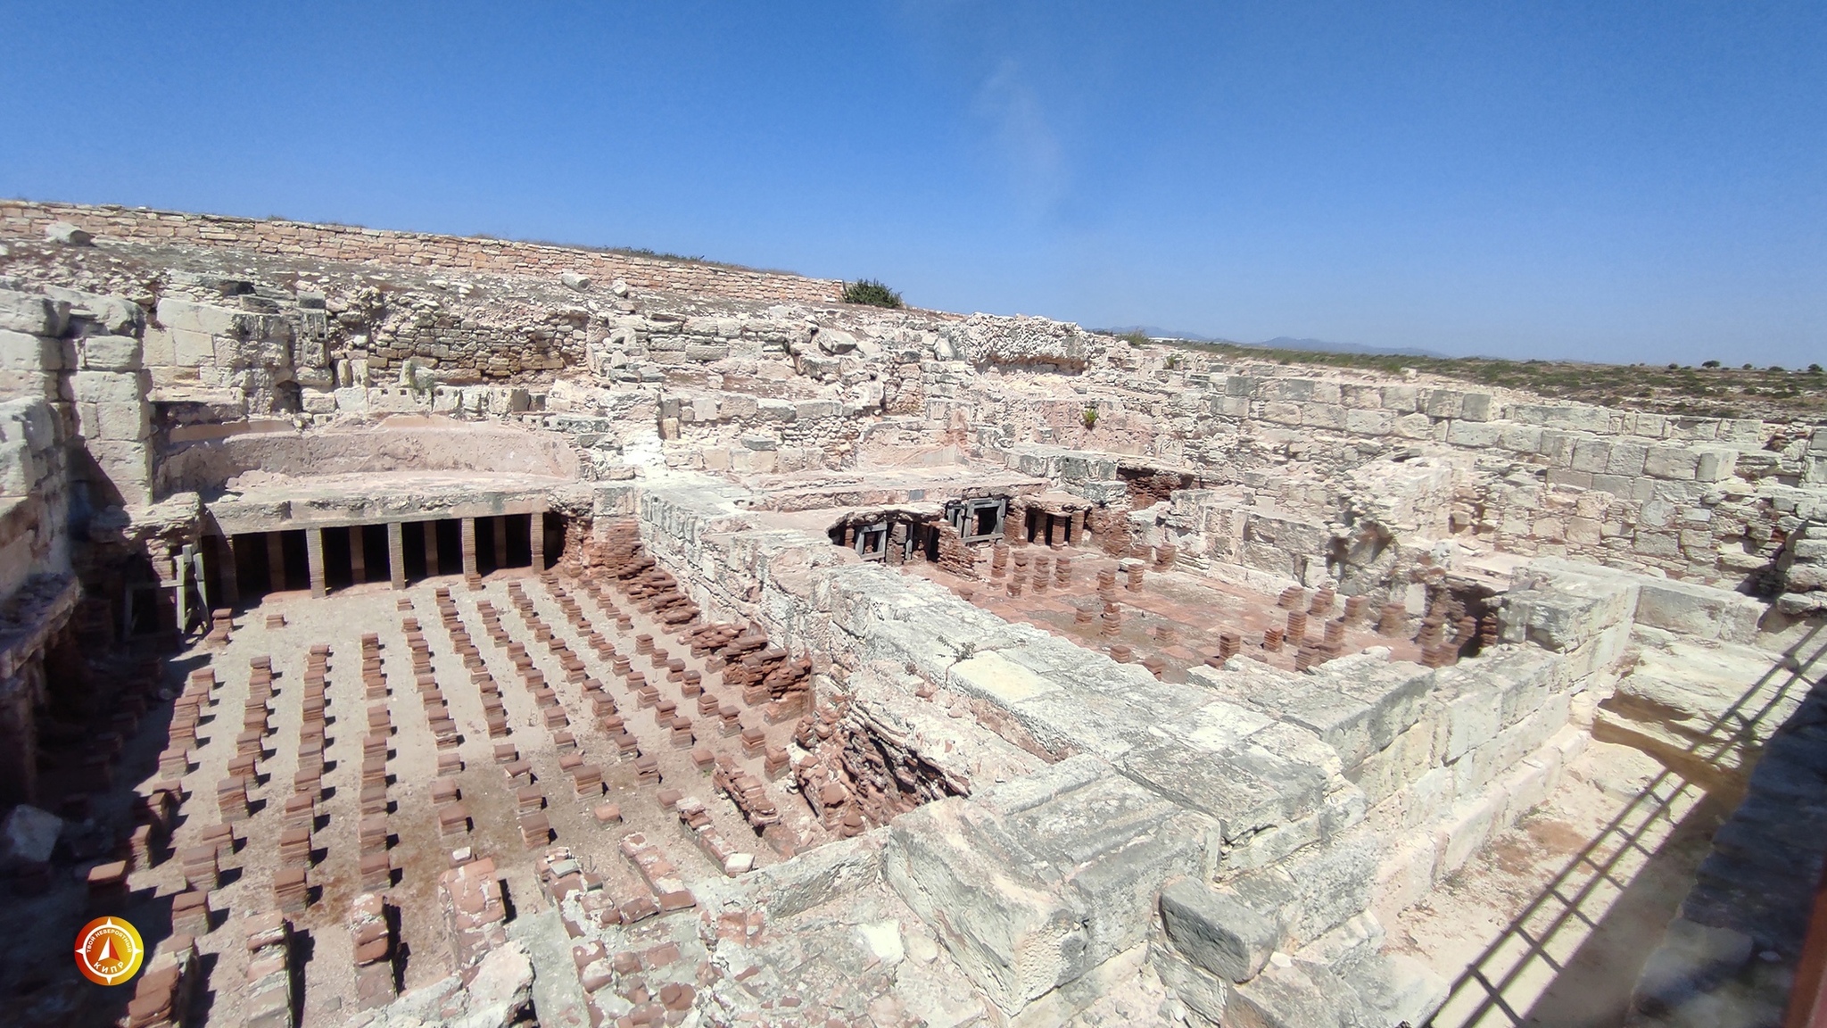
[[1591, 743], [1546, 803], [1387, 926], [1392, 949], [1454, 982], [1432, 1028], [1621, 1026], [1727, 812], [1644, 754]]

